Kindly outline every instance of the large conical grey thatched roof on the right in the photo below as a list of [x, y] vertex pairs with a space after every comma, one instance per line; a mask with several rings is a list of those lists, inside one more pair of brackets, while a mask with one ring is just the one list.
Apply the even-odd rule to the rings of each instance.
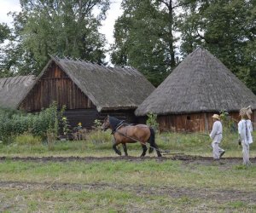
[[236, 112], [249, 105], [256, 109], [256, 95], [220, 60], [197, 48], [137, 107], [135, 114]]

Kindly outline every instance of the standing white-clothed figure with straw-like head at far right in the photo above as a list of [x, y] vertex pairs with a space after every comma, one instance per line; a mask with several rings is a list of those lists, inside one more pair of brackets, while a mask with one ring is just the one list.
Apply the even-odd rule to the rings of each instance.
[[252, 114], [252, 107], [249, 106], [247, 108], [241, 108], [240, 116], [241, 121], [238, 123], [238, 134], [241, 140], [241, 147], [242, 147], [242, 159], [243, 164], [249, 165], [250, 162], [250, 144], [253, 143], [253, 125], [251, 122], [251, 114]]

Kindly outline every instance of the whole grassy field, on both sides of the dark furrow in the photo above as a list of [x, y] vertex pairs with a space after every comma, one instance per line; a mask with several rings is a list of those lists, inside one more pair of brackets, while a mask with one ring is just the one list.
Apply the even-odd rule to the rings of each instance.
[[111, 140], [1, 144], [0, 212], [256, 212], [255, 142], [245, 167], [236, 138], [224, 135], [219, 161], [199, 134], [156, 138], [163, 150], [205, 157], [191, 160], [136, 158], [138, 143], [128, 145], [132, 158], [119, 157]]

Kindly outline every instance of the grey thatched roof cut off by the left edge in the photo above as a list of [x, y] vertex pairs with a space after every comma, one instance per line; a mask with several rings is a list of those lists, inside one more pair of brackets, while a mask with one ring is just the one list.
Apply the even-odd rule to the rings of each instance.
[[0, 78], [0, 107], [17, 108], [34, 81], [33, 75]]

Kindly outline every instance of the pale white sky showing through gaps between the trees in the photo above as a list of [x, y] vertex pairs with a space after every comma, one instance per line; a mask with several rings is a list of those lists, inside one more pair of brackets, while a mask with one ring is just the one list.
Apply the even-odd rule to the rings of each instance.
[[[105, 34], [108, 43], [113, 43], [113, 25], [114, 21], [123, 13], [120, 9], [121, 0], [111, 0], [110, 9], [107, 12], [107, 19], [102, 22], [102, 28], [100, 32]], [[8, 15], [11, 12], [19, 12], [20, 0], [0, 0], [0, 23], [7, 23], [11, 25], [12, 17]], [[108, 46], [106, 47], [108, 49]], [[107, 61], [109, 60], [109, 55], [107, 55]]]

